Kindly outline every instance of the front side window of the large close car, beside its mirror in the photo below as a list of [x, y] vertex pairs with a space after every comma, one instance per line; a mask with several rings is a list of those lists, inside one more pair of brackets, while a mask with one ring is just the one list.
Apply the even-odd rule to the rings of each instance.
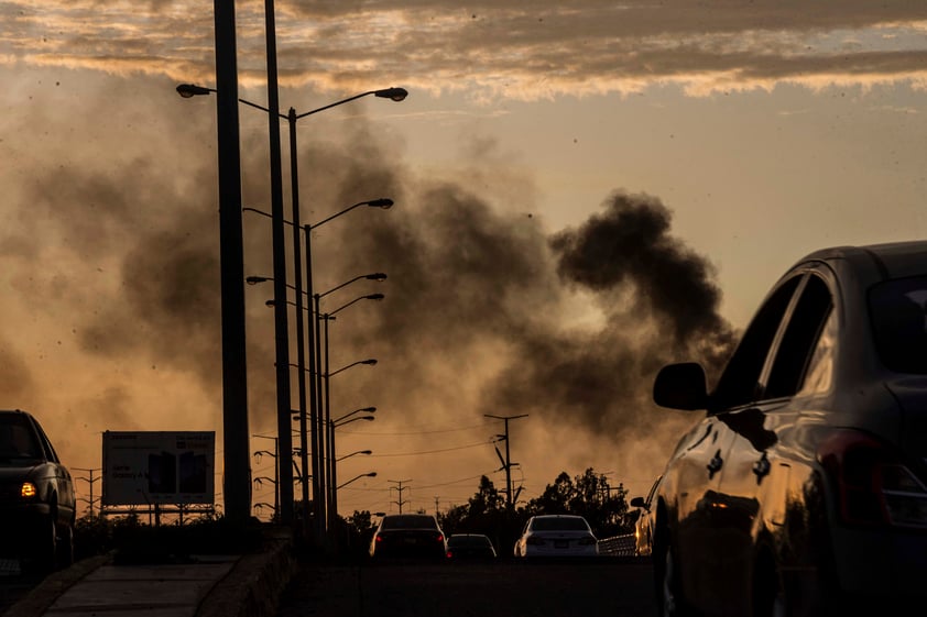
[[711, 395], [712, 411], [756, 399], [763, 365], [800, 280], [797, 275], [779, 285], [756, 311]]

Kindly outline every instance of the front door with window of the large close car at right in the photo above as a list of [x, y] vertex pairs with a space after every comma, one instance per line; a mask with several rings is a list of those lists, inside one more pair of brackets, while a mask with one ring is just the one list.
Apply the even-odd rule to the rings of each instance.
[[688, 520], [678, 521], [677, 558], [685, 596], [708, 614], [730, 610], [732, 543], [738, 541], [731, 529], [755, 510], [753, 504], [723, 491], [730, 452], [741, 438], [738, 427], [744, 420], [759, 421], [764, 368], [800, 280], [799, 276], [781, 280], [756, 311], [711, 393], [706, 440], [686, 463], [690, 511]]

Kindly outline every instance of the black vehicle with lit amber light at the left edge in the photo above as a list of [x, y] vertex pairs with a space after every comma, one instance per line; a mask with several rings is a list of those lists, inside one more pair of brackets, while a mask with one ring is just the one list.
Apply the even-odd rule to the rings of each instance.
[[0, 557], [26, 574], [74, 561], [74, 481], [39, 421], [0, 410]]

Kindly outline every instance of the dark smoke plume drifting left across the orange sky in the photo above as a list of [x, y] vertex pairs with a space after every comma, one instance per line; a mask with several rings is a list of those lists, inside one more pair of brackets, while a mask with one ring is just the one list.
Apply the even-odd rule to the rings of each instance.
[[[145, 112], [159, 125], [131, 142], [138, 152], [101, 147], [87, 156], [98, 162], [88, 168], [62, 167], [54, 157], [30, 168], [14, 207], [21, 224], [0, 234], [4, 267], [34, 318], [70, 337], [64, 346], [74, 348], [74, 373], [88, 360], [113, 367], [86, 379], [67, 409], [39, 410], [59, 423], [59, 434], [75, 417], [88, 431], [155, 430], [160, 401], [143, 400], [123, 365], [151, 371], [154, 383], [168, 372], [188, 376], [214, 405], [176, 409], [175, 417], [221, 426], [215, 128], [192, 125], [182, 107], [189, 103], [175, 100], [172, 85], [160, 88], [171, 98], [151, 87]], [[117, 124], [108, 131], [122, 147]], [[378, 428], [531, 414], [550, 427], [567, 421], [609, 445], [630, 444], [667, 421], [650, 399], [662, 364], [696, 357], [712, 367], [729, 353], [732, 333], [718, 315], [710, 262], [672, 235], [658, 199], [617, 192], [579, 228], [552, 234], [542, 217], [525, 216], [524, 203], [513, 206], [499, 188], [511, 186], [514, 174], [498, 166], [491, 144], [472, 150], [470, 166], [452, 181], [422, 178], [404, 167], [395, 140], [378, 139], [362, 118], [350, 125], [335, 137], [312, 132], [301, 144], [303, 222], [379, 197], [396, 205], [359, 208], [313, 232], [316, 291], [368, 273], [389, 275], [324, 299], [323, 310], [332, 311], [360, 295], [386, 296], [346, 308], [331, 323], [332, 368], [380, 361], [332, 378], [332, 411], [375, 405], [383, 410]], [[269, 210], [265, 128], [252, 130], [242, 135], [243, 205]], [[160, 150], [146, 153], [153, 143]], [[210, 145], [165, 150], [176, 143]], [[68, 161], [79, 153], [75, 141]], [[498, 177], [504, 181], [493, 184]], [[288, 211], [288, 195], [285, 202]], [[246, 212], [242, 224], [246, 274], [271, 275], [268, 219]], [[276, 427], [273, 319], [264, 306], [271, 296], [269, 284], [246, 288], [252, 432]], [[577, 324], [590, 309], [599, 318]], [[293, 332], [291, 320], [291, 340]], [[0, 334], [13, 337], [9, 327]], [[53, 382], [24, 351], [29, 341], [15, 342], [0, 346], [3, 394]], [[675, 434], [663, 441], [668, 448]], [[99, 451], [96, 441], [79, 448]], [[489, 445], [486, 454], [493, 454]], [[564, 462], [565, 471], [582, 469]]]

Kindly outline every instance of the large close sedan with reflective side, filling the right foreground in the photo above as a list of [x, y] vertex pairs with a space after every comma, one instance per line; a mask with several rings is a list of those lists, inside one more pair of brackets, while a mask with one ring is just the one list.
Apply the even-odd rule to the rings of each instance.
[[809, 254], [772, 287], [656, 494], [664, 617], [901, 615], [927, 603], [927, 242]]

